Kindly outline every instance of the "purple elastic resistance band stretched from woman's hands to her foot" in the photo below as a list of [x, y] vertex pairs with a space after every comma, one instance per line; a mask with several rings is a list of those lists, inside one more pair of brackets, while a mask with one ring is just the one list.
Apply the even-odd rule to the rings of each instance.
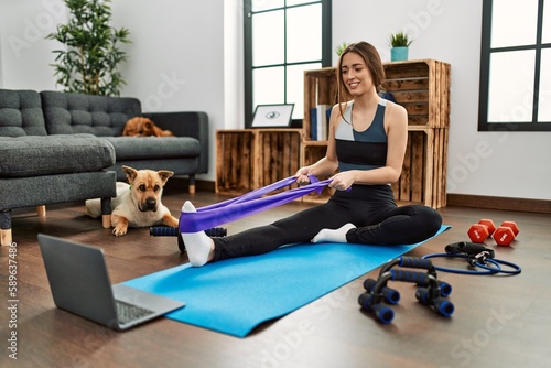
[[323, 187], [331, 183], [329, 178], [320, 182], [313, 175], [309, 175], [309, 185], [299, 186], [271, 196], [260, 198], [270, 192], [295, 183], [296, 177], [290, 176], [277, 183], [246, 193], [239, 197], [197, 208], [196, 213], [182, 212], [180, 214], [180, 232], [198, 232], [235, 221], [259, 212], [281, 206], [312, 192], [322, 193]]

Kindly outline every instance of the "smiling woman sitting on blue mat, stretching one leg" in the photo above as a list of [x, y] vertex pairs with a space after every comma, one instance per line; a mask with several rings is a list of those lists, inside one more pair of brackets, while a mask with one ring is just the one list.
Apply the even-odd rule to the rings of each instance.
[[[228, 237], [183, 232], [192, 266], [261, 255], [294, 242], [404, 245], [436, 234], [442, 225], [436, 210], [422, 205], [398, 207], [393, 199], [391, 183], [402, 170], [408, 115], [379, 96], [385, 69], [377, 50], [366, 42], [349, 45], [341, 55], [338, 72], [339, 104], [331, 113], [327, 153], [295, 174], [304, 185], [310, 183], [309, 174], [338, 171], [328, 185], [336, 190], [334, 195], [325, 204]], [[185, 216], [195, 207], [186, 202], [183, 212]]]

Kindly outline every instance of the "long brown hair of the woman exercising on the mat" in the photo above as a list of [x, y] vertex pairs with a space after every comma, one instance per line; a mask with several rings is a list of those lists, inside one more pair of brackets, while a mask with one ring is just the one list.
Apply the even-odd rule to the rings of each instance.
[[374, 80], [377, 93], [380, 93], [382, 90], [382, 84], [385, 83], [385, 68], [382, 67], [382, 62], [377, 48], [375, 48], [370, 43], [364, 41], [349, 44], [341, 54], [337, 66], [337, 101], [341, 108], [341, 116], [343, 116], [342, 102], [350, 99], [341, 71], [341, 68], [343, 67], [343, 57], [348, 53], [355, 53], [361, 56], [361, 58], [366, 63], [367, 68], [371, 73], [371, 78]]

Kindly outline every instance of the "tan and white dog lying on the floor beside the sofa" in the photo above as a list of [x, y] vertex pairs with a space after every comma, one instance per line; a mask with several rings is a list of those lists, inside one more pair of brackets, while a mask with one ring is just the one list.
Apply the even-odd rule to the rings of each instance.
[[[163, 186], [172, 171], [136, 170], [122, 166], [128, 183], [117, 183], [117, 197], [111, 199], [111, 226], [115, 236], [127, 234], [128, 227], [166, 225], [177, 227], [179, 220], [161, 202]], [[99, 199], [86, 201], [86, 213], [101, 216]]]

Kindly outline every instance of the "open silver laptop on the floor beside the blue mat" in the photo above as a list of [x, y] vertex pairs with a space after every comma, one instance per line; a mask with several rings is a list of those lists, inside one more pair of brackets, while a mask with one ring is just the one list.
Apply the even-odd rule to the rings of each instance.
[[123, 284], [111, 285], [100, 248], [43, 234], [39, 245], [58, 309], [123, 331], [185, 305]]

